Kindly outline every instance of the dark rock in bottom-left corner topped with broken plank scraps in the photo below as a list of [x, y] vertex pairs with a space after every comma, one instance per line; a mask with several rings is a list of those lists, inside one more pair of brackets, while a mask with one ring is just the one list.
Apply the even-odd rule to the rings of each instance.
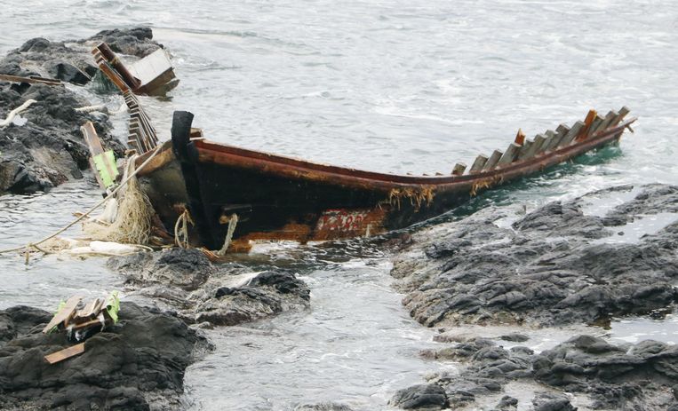
[[170, 313], [123, 302], [120, 320], [85, 341], [84, 353], [50, 365], [68, 345], [41, 331], [52, 313], [0, 311], [0, 409], [177, 409], [183, 375], [210, 349]]

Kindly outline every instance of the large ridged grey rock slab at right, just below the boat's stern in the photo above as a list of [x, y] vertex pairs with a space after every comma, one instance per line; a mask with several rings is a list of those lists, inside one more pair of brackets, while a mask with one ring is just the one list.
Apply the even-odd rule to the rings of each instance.
[[637, 242], [614, 233], [675, 213], [678, 187], [642, 187], [602, 216], [587, 215], [586, 200], [546, 204], [510, 226], [497, 224], [509, 210], [483, 209], [415, 235], [392, 271], [403, 303], [429, 327], [592, 324], [674, 304], [678, 216]]

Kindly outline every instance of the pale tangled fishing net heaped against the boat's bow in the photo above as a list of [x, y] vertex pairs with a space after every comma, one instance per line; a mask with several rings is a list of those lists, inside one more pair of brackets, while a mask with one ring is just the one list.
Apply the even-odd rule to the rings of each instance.
[[[136, 155], [124, 168], [123, 181], [134, 172]], [[115, 198], [108, 199], [104, 213], [83, 223], [83, 231], [92, 240], [124, 244], [147, 244], [151, 233], [153, 206], [141, 191], [139, 180], [132, 176]]]

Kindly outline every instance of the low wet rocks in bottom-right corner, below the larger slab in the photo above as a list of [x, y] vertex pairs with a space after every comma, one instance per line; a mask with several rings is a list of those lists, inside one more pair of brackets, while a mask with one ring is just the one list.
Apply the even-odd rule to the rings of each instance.
[[[436, 407], [445, 403], [452, 409], [474, 407], [516, 381], [541, 387], [542, 392], [531, 399], [535, 410], [577, 409], [564, 392], [588, 399], [590, 409], [666, 409], [675, 402], [678, 348], [656, 341], [613, 345], [581, 335], [535, 353], [527, 347], [505, 349], [477, 338], [441, 351], [447, 352], [443, 358], [448, 359], [456, 352], [453, 358], [462, 364], [460, 373], [443, 371], [432, 375], [427, 384], [397, 391], [393, 405], [427, 409], [435, 401]], [[553, 391], [543, 391], [544, 387]], [[495, 408], [515, 409], [518, 405], [518, 399], [504, 396]]]

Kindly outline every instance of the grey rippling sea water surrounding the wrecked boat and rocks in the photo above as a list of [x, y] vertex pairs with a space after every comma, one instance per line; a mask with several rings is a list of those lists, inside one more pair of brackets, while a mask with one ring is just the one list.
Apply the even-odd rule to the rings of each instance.
[[[482, 195], [458, 213], [678, 182], [674, 1], [0, 0], [0, 53], [35, 36], [82, 38], [138, 25], [153, 28], [181, 79], [171, 99], [141, 99], [163, 136], [171, 112], [189, 110], [208, 138], [237, 146], [367, 170], [448, 173], [454, 162], [503, 149], [518, 128], [530, 137], [589, 108], [626, 105], [639, 121], [618, 147]], [[117, 107], [122, 99], [105, 102]], [[98, 199], [92, 178], [0, 197], [0, 247], [51, 233]], [[633, 227], [634, 235], [642, 230]], [[282, 410], [337, 400], [383, 409], [396, 389], [455, 367], [419, 359], [435, 331], [409, 318], [390, 287], [388, 256], [369, 243], [260, 252], [269, 265], [298, 269], [312, 307], [210, 331], [217, 350], [188, 369], [188, 408]], [[251, 258], [260, 264], [259, 257]], [[99, 295], [122, 279], [98, 258], [25, 265], [3, 256], [0, 284], [0, 308], [52, 309], [61, 297]], [[672, 314], [588, 331], [678, 342]], [[568, 336], [536, 333], [533, 346]]]

